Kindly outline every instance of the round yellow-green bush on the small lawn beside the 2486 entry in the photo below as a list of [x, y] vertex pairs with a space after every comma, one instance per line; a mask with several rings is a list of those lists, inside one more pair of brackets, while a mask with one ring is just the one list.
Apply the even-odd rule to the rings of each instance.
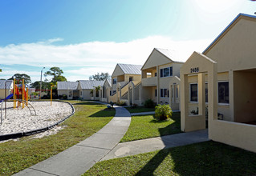
[[157, 120], [166, 120], [171, 118], [173, 110], [169, 105], [157, 105], [155, 110], [155, 118]]

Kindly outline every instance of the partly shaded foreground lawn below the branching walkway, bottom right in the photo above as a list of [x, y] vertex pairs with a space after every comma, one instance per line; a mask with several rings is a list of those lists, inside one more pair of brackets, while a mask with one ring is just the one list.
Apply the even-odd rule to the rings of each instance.
[[255, 175], [256, 154], [201, 142], [98, 162], [83, 175]]

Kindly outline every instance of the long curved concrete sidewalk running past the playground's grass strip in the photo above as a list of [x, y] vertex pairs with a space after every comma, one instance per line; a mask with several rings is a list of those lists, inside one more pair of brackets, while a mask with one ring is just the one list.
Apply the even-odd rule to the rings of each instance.
[[123, 138], [131, 122], [124, 107], [115, 106], [116, 115], [91, 137], [55, 156], [14, 175], [81, 175], [104, 158]]

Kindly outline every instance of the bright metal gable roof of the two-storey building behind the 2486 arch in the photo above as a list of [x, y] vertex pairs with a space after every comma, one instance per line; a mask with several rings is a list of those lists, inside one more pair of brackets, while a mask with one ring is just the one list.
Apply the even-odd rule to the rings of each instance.
[[144, 68], [144, 66], [146, 65], [146, 63], [148, 62], [149, 58], [151, 58], [152, 53], [153, 52], [157, 52], [163, 56], [165, 56], [165, 58], [167, 59], [166, 62], [174, 62], [174, 63], [184, 63], [184, 62], [180, 62], [180, 61], [175, 61], [173, 59], [175, 59], [175, 55], [174, 55], [174, 51], [173, 50], [168, 50], [168, 49], [162, 49], [162, 48], [154, 48], [151, 52], [151, 54], [149, 54], [146, 62], [144, 62], [144, 65], [141, 67], [141, 70]]

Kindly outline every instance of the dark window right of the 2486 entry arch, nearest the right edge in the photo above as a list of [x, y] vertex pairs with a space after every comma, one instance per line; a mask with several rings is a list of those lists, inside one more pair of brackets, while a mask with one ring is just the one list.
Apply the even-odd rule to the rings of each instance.
[[218, 103], [230, 103], [229, 82], [218, 82]]

